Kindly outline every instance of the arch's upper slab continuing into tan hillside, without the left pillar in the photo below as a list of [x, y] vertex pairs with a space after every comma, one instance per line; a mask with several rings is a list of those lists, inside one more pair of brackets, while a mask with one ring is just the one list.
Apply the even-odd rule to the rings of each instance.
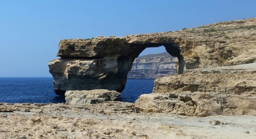
[[60, 41], [57, 56], [137, 57], [145, 48], [164, 45], [167, 52], [174, 57], [178, 56], [175, 51], [180, 51], [185, 63], [187, 59], [197, 61], [194, 68], [247, 64], [255, 62], [255, 28], [256, 18], [250, 18], [175, 32], [65, 39]]

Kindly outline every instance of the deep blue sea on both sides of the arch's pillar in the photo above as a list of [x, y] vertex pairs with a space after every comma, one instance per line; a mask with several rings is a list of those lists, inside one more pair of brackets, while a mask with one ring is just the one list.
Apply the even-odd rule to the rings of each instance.
[[[0, 77], [0, 103], [65, 103], [53, 91], [52, 77]], [[120, 101], [135, 102], [152, 93], [153, 79], [127, 79]]]

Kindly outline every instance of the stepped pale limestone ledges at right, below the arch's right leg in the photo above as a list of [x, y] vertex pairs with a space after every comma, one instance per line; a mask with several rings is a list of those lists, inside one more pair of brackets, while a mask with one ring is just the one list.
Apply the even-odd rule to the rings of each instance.
[[256, 63], [186, 70], [155, 80], [135, 107], [189, 116], [256, 115]]

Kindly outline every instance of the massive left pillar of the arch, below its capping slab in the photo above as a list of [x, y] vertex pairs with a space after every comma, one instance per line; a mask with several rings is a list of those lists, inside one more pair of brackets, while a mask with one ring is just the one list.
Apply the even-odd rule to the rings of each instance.
[[115, 57], [52, 60], [49, 71], [53, 75], [54, 91], [62, 96], [66, 90], [107, 89], [121, 92], [132, 67], [129, 61], [132, 60], [120, 61]]

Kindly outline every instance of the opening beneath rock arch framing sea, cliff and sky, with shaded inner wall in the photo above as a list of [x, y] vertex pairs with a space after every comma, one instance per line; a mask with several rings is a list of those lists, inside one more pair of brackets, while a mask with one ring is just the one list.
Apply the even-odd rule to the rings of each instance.
[[[160, 54], [143, 53], [145, 50], [152, 48], [152, 46], [155, 50], [159, 49], [159, 52], [165, 52]], [[137, 100], [140, 95], [152, 93], [154, 87], [154, 80], [156, 78], [176, 73], [176, 61], [178, 61], [179, 63], [179, 70], [177, 71], [177, 73], [183, 73], [184, 68], [182, 67], [184, 67], [184, 60], [180, 54], [179, 46], [176, 46], [174, 44], [158, 43], [144, 47], [145, 48], [140, 52], [144, 55], [142, 56], [139, 53], [139, 57], [134, 58], [134, 61], [130, 67], [130, 71], [127, 73], [128, 76], [125, 88], [120, 96], [120, 101], [122, 102], [135, 102], [135, 100]], [[140, 63], [141, 61], [142, 63]], [[167, 71], [167, 68], [171, 68], [172, 72], [170, 72], [170, 69], [169, 71]], [[156, 76], [156, 74], [158, 74], [158, 76]], [[150, 75], [153, 75], [153, 77], [150, 77]]]

